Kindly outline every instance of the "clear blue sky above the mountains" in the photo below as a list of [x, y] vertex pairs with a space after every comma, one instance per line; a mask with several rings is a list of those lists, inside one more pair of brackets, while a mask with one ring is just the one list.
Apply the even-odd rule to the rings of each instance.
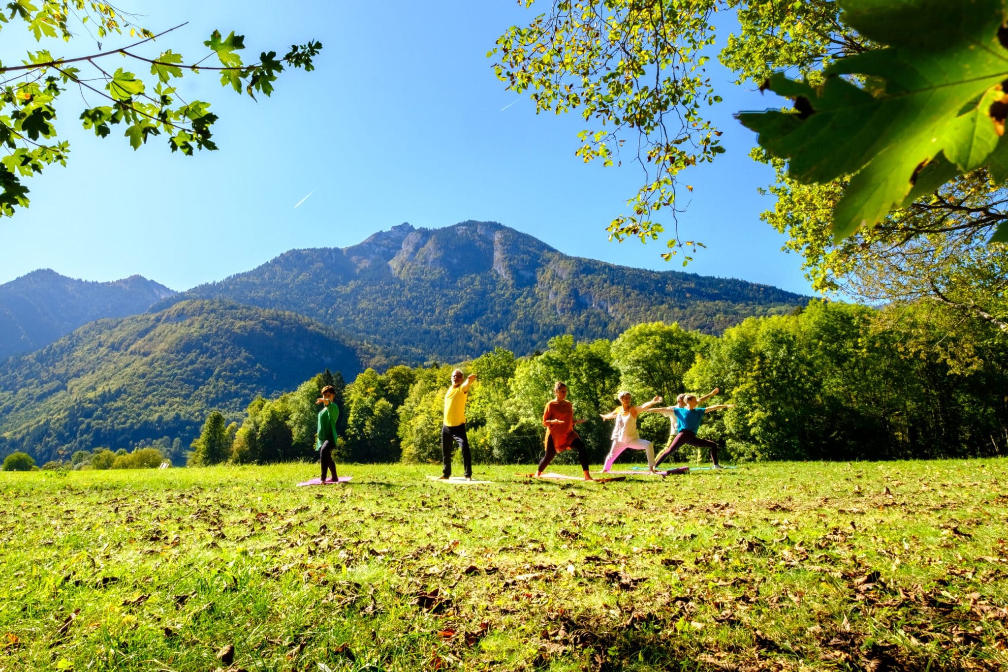
[[[31, 207], [0, 221], [0, 283], [52, 268], [88, 280], [138, 273], [180, 290], [291, 248], [353, 245], [402, 222], [464, 220], [500, 222], [566, 254], [682, 268], [659, 258], [663, 243], [607, 241], [606, 225], [640, 185], [638, 169], [576, 158], [578, 116], [536, 116], [527, 99], [507, 107], [516, 97], [486, 52], [507, 26], [533, 16], [514, 0], [137, 0], [124, 8], [155, 32], [190, 21], [146, 55], [170, 47], [186, 62], [202, 57], [215, 28], [245, 34], [252, 53], [282, 53], [309, 38], [325, 48], [316, 72], [281, 76], [258, 103], [222, 89], [213, 74], [186, 77], [181, 91], [212, 101], [221, 117], [221, 150], [196, 157], [170, 154], [160, 138], [134, 152], [118, 129], [95, 138], [79, 127], [80, 96], [65, 94], [57, 126], [72, 143], [70, 163], [31, 178]], [[716, 18], [723, 29], [732, 20]], [[3, 28], [4, 62], [31, 45], [15, 30]], [[66, 56], [96, 46], [87, 36], [49, 41]], [[107, 64], [134, 66], [120, 56]], [[781, 252], [784, 239], [759, 221], [772, 200], [757, 188], [772, 173], [748, 158], [755, 137], [732, 119], [773, 103], [732, 85], [716, 62], [709, 72], [725, 99], [714, 118], [728, 153], [683, 174], [694, 192], [681, 231], [708, 246], [686, 270], [809, 292], [800, 258]]]

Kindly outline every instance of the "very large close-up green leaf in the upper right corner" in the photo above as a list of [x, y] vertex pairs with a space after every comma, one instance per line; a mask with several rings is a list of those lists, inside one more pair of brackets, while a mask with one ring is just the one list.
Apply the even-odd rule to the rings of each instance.
[[[993, 104], [1008, 79], [1008, 49], [999, 40], [1005, 0], [841, 6], [844, 20], [882, 48], [841, 58], [818, 87], [774, 76], [769, 88], [792, 99], [794, 111], [739, 115], [765, 149], [788, 160], [794, 180], [853, 175], [834, 213], [838, 241], [906, 204], [919, 191], [922, 167], [940, 153], [955, 172], [937, 163], [928, 185], [938, 174], [949, 179], [986, 165], [1003, 131]], [[856, 86], [851, 76], [873, 87]]]

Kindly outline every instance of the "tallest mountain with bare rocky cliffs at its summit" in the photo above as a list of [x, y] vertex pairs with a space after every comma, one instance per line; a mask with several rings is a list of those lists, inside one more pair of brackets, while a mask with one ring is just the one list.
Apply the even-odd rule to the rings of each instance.
[[404, 362], [457, 361], [497, 346], [524, 355], [556, 334], [611, 339], [653, 320], [720, 333], [807, 302], [743, 280], [571, 257], [492, 222], [401, 224], [352, 247], [291, 250], [158, 305], [191, 298], [298, 312]]

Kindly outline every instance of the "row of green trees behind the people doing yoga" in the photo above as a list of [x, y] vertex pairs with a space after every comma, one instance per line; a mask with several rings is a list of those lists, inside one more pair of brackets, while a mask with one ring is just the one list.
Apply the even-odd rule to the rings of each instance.
[[[542, 407], [564, 381], [593, 458], [609, 447], [599, 417], [615, 393], [721, 388], [736, 408], [701, 434], [736, 459], [884, 459], [1000, 453], [1008, 444], [1008, 348], [985, 324], [950, 334], [932, 304], [885, 310], [812, 301], [789, 315], [751, 317], [720, 337], [676, 324], [633, 326], [615, 341], [557, 337], [527, 358], [496, 349], [463, 363], [478, 383], [467, 424], [474, 458], [531, 462], [541, 455]], [[955, 356], [953, 356], [953, 354]], [[338, 456], [345, 461], [435, 461], [443, 400], [454, 366], [373, 369], [344, 385], [320, 374], [277, 399], [257, 398], [240, 426], [212, 414], [191, 463], [266, 463], [314, 455], [314, 401], [338, 390]], [[664, 442], [668, 420], [642, 416], [645, 438]], [[688, 457], [689, 455], [681, 455]]]

